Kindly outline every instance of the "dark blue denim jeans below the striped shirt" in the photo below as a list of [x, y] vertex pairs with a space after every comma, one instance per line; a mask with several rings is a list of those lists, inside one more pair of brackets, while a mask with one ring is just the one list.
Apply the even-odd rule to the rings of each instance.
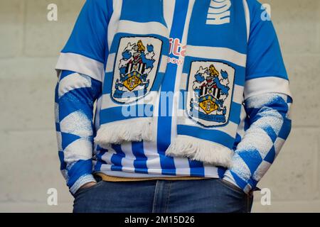
[[105, 182], [75, 193], [73, 212], [250, 212], [252, 194], [222, 179]]

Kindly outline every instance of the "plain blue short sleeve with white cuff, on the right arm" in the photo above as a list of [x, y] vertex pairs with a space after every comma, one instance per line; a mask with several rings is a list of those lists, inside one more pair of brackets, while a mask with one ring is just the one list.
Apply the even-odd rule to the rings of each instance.
[[270, 18], [262, 18], [265, 9], [257, 0], [246, 0], [250, 13], [247, 44], [245, 99], [275, 92], [291, 96], [282, 52]]

